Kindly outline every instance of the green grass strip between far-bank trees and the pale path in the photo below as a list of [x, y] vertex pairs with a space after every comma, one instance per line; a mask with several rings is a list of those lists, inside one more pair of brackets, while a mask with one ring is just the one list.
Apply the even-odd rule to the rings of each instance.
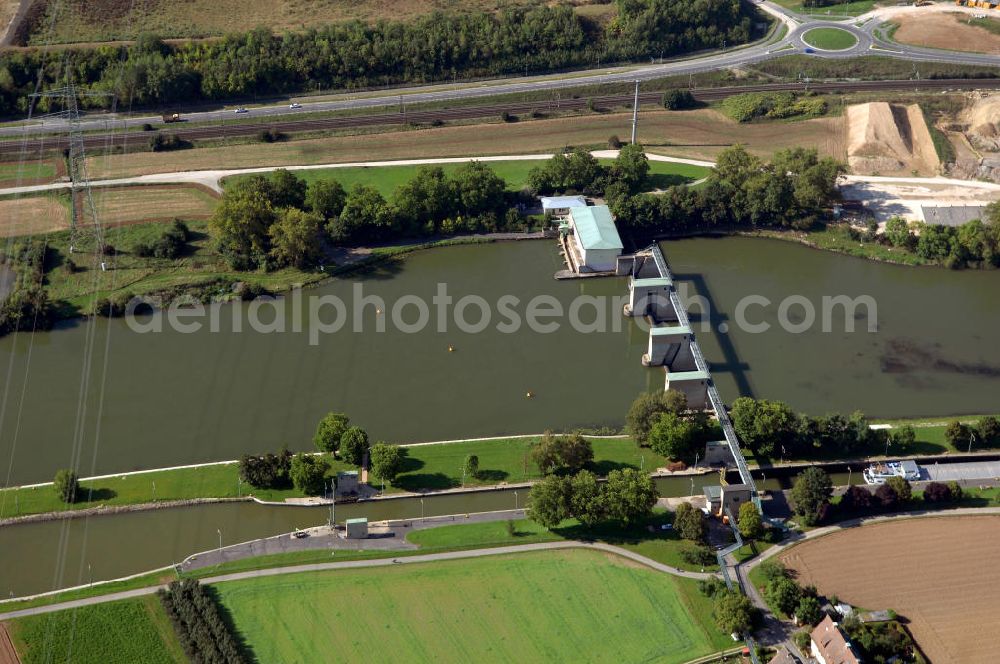
[[[605, 166], [610, 165], [610, 159], [601, 159]], [[515, 161], [488, 161], [484, 162], [493, 171], [502, 177], [510, 189], [519, 190], [528, 181], [528, 173], [531, 169], [544, 163], [538, 159], [524, 159]], [[451, 173], [462, 164], [438, 164], [445, 173]], [[337, 180], [344, 189], [350, 189], [356, 184], [367, 184], [375, 187], [383, 196], [390, 196], [401, 184], [413, 179], [421, 166], [354, 166], [347, 168], [316, 168], [293, 171], [296, 176], [306, 182], [316, 180]], [[649, 177], [646, 186], [648, 189], [662, 189], [670, 185], [685, 184], [699, 180], [708, 175], [709, 169], [702, 166], [691, 166], [689, 164], [676, 164], [664, 161], [649, 162]], [[225, 186], [229, 186], [239, 180], [252, 177], [249, 175], [235, 175], [223, 181]]]

